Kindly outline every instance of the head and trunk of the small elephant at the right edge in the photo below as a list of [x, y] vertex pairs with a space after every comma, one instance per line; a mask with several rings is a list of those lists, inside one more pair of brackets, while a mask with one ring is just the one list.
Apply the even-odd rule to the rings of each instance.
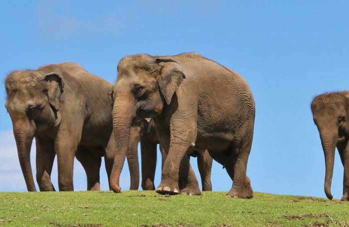
[[[328, 93], [315, 97], [311, 104], [314, 122], [318, 127], [325, 153], [325, 193], [332, 200], [331, 183], [338, 142], [348, 138], [348, 100], [343, 93]], [[346, 172], [346, 171], [345, 171]], [[344, 176], [349, 180], [349, 176]]]

